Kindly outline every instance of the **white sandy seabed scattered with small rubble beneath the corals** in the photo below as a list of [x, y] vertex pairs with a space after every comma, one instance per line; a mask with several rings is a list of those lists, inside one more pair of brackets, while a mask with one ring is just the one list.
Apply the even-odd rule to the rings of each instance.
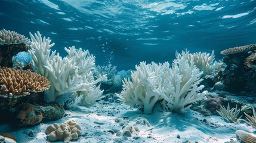
[[[156, 107], [152, 115], [142, 114], [135, 108], [130, 109], [127, 105], [118, 103], [104, 103], [100, 101], [94, 106], [78, 107], [74, 111], [66, 111], [66, 117], [60, 120], [42, 123], [29, 128], [13, 128], [10, 125], [0, 125], [0, 133], [8, 132], [16, 136], [17, 142], [47, 142], [45, 129], [53, 123], [63, 123], [73, 119], [81, 125], [82, 136], [72, 142], [225, 142], [230, 139], [236, 140], [235, 131], [238, 129], [252, 132], [251, 126], [245, 124], [235, 125], [226, 123], [219, 116], [203, 117], [196, 111], [189, 110], [186, 114], [174, 114], [162, 111]], [[147, 119], [151, 126], [138, 124], [138, 117]], [[138, 126], [140, 132], [130, 138], [118, 137], [107, 130], [122, 130], [115, 119], [121, 118], [129, 126]], [[203, 121], [203, 119], [206, 120]], [[99, 125], [94, 122], [103, 123]], [[30, 135], [32, 133], [34, 135]], [[177, 136], [180, 138], [177, 138]], [[62, 141], [58, 141], [62, 142]]]

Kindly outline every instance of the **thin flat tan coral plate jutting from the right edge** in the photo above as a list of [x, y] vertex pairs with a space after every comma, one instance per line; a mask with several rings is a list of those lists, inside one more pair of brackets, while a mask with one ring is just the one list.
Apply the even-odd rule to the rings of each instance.
[[220, 54], [230, 55], [230, 54], [236, 54], [239, 52], [251, 51], [254, 49], [256, 49], [256, 44], [245, 45], [245, 46], [236, 46], [235, 48], [225, 49], [225, 50], [221, 51]]

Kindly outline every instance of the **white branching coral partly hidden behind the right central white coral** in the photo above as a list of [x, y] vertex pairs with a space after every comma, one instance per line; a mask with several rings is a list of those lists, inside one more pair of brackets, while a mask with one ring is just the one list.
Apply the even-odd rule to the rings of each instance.
[[195, 66], [198, 67], [199, 70], [203, 71], [203, 77], [215, 70], [220, 70], [221, 67], [223, 67], [223, 61], [214, 61], [214, 51], [212, 51], [211, 55], [206, 52], [190, 54], [186, 49], [186, 51], [182, 51], [181, 53], [176, 52], [175, 55], [178, 59], [184, 57], [190, 62], [193, 61]]

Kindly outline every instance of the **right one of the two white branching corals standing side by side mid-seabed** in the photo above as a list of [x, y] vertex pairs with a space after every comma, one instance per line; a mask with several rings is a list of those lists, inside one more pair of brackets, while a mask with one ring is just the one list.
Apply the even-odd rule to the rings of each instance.
[[204, 86], [199, 85], [203, 72], [196, 68], [193, 61], [178, 58], [167, 71], [168, 74], [161, 73], [163, 82], [158, 93], [171, 111], [184, 113], [194, 102], [206, 99], [206, 91], [201, 92]]

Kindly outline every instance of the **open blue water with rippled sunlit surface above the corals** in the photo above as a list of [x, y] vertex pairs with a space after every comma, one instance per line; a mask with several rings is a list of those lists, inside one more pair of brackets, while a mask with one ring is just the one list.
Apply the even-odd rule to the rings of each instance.
[[1, 0], [0, 19], [0, 29], [40, 31], [61, 55], [75, 45], [118, 70], [171, 62], [185, 48], [221, 59], [223, 49], [256, 43], [254, 0]]

